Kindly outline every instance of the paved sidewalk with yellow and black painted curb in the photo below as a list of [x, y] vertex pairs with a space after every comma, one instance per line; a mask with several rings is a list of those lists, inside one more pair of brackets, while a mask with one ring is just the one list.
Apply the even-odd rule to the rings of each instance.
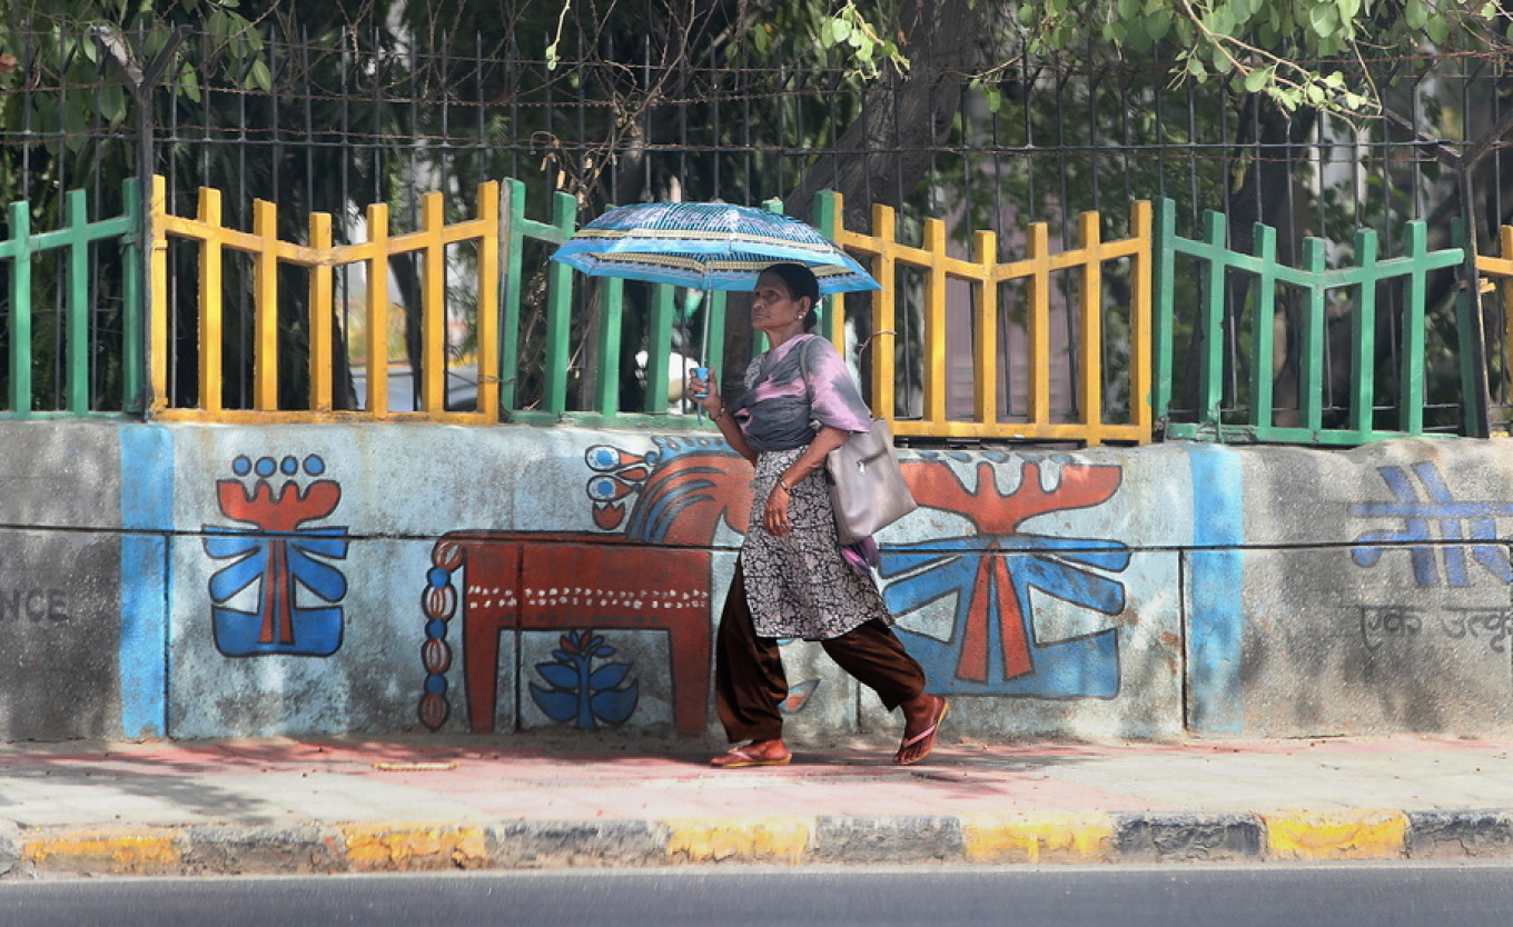
[[[944, 735], [943, 735], [944, 736]], [[713, 770], [688, 741], [0, 747], [0, 871], [1513, 857], [1513, 739], [943, 743]]]

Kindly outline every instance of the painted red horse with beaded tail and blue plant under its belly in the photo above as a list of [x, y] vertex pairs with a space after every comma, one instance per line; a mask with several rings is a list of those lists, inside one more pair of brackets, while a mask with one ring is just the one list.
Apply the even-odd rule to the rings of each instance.
[[[579, 727], [617, 724], [635, 709], [631, 667], [607, 632], [669, 638], [673, 726], [699, 735], [710, 693], [711, 546], [720, 525], [743, 526], [749, 479], [711, 437], [657, 437], [646, 454], [595, 445], [584, 454], [592, 532], [452, 532], [433, 549], [424, 591], [427, 670], [419, 718], [436, 730], [451, 714], [448, 629], [461, 625], [468, 724], [495, 729], [499, 640], [517, 631], [561, 632], [554, 661], [528, 682], [551, 718]], [[595, 643], [598, 641], [598, 643]]]

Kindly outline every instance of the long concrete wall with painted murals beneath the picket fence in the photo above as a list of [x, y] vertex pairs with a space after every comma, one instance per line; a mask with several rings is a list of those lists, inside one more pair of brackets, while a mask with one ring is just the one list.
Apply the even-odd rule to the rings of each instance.
[[[0, 739], [717, 733], [717, 439], [3, 423]], [[1513, 443], [908, 451], [881, 538], [955, 733], [1510, 726]], [[784, 644], [797, 739], [893, 732]]]

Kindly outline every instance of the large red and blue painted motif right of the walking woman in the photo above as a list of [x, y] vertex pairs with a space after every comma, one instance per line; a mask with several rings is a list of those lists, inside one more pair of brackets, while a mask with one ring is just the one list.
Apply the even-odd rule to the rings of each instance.
[[[941, 467], [944, 464], [926, 464]], [[977, 466], [977, 491], [955, 476], [911, 479], [921, 507], [961, 513], [977, 531], [918, 544], [888, 544], [879, 572], [891, 579], [884, 597], [906, 614], [953, 596], [947, 640], [897, 629], [930, 677], [930, 691], [956, 694], [1104, 697], [1120, 691], [1118, 632], [1041, 643], [1030, 590], [1108, 615], [1124, 609], [1124, 585], [1103, 573], [1123, 572], [1129, 549], [1100, 538], [1058, 538], [1020, 531], [1035, 516], [1089, 508], [1111, 499], [1120, 467], [1065, 464], [1061, 484], [1041, 488], [1039, 464], [1029, 461], [1014, 493], [997, 490], [991, 464]]]

